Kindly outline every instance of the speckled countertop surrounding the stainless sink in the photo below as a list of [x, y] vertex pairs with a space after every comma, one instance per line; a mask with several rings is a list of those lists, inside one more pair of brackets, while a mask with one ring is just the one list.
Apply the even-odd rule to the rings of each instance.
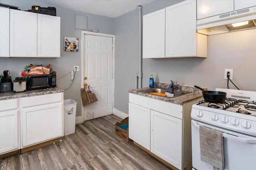
[[[165, 88], [165, 89], [167, 89], [169, 86], [170, 86], [169, 83], [154, 82], [154, 88]], [[137, 95], [140, 95], [140, 96], [146, 96], [146, 97], [149, 97], [149, 98], [178, 104], [178, 105], [183, 105], [184, 103], [189, 102], [190, 100], [202, 97], [202, 90], [199, 90], [198, 88], [195, 88], [194, 86], [180, 85], [178, 90], [184, 91], [184, 92], [192, 92], [192, 93], [186, 94], [184, 96], [180, 96], [178, 98], [169, 98], [169, 97], [164, 97], [164, 96], [158, 96], [158, 95], [154, 95], [154, 94], [139, 92], [140, 90], [145, 90], [145, 89], [150, 89], [150, 88], [146, 87], [146, 88], [140, 88], [140, 89], [132, 89], [132, 90], [129, 90], [128, 92], [133, 93], [133, 94], [137, 94]], [[203, 88], [203, 89], [207, 90], [207, 88]]]

